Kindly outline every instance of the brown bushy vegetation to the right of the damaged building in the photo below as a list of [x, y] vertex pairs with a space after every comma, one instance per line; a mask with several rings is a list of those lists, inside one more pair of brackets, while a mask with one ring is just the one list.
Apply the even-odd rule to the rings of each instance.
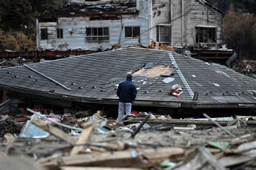
[[235, 12], [231, 5], [223, 19], [223, 30], [227, 45], [240, 59], [256, 59], [256, 17], [253, 14]]

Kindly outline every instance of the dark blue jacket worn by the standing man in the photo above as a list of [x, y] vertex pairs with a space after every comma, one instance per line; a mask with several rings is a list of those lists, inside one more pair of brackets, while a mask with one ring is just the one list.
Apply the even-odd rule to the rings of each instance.
[[122, 103], [132, 103], [137, 95], [137, 89], [130, 79], [126, 79], [119, 84], [117, 88], [117, 96]]

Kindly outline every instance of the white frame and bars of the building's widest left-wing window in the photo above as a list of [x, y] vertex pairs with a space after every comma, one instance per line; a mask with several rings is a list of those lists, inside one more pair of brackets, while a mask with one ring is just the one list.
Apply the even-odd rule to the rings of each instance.
[[[88, 35], [89, 32], [87, 32], [90, 29], [90, 35]], [[93, 35], [95, 34], [95, 32], [93, 32], [93, 30], [97, 30], [97, 35]], [[98, 35], [100, 29], [102, 29], [102, 35]], [[107, 35], [105, 35], [105, 29], [107, 29]], [[101, 39], [102, 38], [102, 39]], [[106, 39], [105, 39], [106, 38]], [[85, 42], [109, 42], [110, 40], [110, 33], [109, 33], [109, 27], [105, 26], [105, 27], [86, 27], [85, 28]]]

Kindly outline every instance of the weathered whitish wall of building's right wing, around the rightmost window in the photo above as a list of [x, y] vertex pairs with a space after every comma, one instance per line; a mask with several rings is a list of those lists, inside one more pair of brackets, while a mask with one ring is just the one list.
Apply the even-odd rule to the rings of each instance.
[[[184, 1], [184, 33], [182, 43], [181, 32], [181, 2]], [[208, 25], [217, 27], [217, 44], [224, 43], [221, 13], [201, 4], [197, 0], [172, 0], [172, 45], [183, 46], [196, 43], [196, 29], [198, 25]]]

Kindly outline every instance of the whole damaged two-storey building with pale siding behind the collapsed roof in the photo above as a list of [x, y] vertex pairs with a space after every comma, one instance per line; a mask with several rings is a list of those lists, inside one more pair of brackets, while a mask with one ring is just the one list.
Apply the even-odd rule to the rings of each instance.
[[203, 0], [70, 1], [37, 18], [37, 48], [111, 49], [112, 44], [224, 43], [223, 13]]

